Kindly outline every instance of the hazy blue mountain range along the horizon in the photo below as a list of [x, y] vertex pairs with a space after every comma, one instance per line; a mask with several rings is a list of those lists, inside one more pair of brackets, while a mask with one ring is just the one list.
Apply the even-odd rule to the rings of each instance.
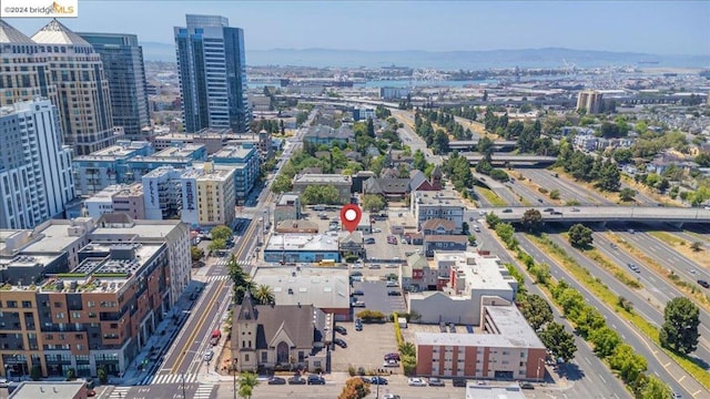
[[[149, 61], [175, 61], [173, 44], [143, 42]], [[294, 66], [410, 66], [437, 70], [490, 68], [595, 68], [609, 65], [710, 68], [710, 55], [656, 55], [633, 52], [586, 51], [560, 48], [489, 51], [362, 51], [332, 49], [247, 50], [248, 65]]]

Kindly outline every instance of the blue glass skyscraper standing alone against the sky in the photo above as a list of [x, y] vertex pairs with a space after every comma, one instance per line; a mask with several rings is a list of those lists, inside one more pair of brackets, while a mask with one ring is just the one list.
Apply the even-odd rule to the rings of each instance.
[[219, 16], [186, 16], [175, 27], [175, 51], [187, 132], [204, 127], [248, 129], [244, 31]]

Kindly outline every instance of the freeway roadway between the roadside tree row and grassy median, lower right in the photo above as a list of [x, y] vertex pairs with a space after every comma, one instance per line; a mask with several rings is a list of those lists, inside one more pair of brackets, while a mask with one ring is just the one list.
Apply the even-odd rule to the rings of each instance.
[[676, 365], [670, 357], [656, 347], [648, 338], [637, 332], [626, 320], [621, 319], [613, 309], [599, 300], [564, 268], [559, 267], [552, 258], [536, 247], [524, 234], [516, 233], [516, 238], [518, 238], [520, 247], [532, 256], [536, 262], [546, 263], [550, 266], [552, 277], [557, 280], [565, 279], [570, 287], [582, 294], [589, 305], [601, 313], [609, 327], [617, 330], [626, 344], [633, 347], [639, 355], [646, 358], [649, 372], [656, 374], [660, 379], [666, 381], [666, 383], [669, 383], [674, 391], [682, 391], [687, 393], [689, 398], [707, 392], [698, 381]]

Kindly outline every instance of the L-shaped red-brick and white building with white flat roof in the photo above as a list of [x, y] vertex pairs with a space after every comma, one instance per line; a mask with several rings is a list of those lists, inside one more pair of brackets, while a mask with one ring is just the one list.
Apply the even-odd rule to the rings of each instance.
[[515, 305], [483, 306], [479, 332], [415, 332], [417, 376], [539, 379], [545, 345]]

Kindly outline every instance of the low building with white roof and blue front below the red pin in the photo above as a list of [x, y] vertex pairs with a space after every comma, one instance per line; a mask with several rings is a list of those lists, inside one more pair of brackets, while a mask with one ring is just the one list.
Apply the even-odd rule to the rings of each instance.
[[316, 263], [341, 262], [337, 235], [273, 234], [264, 247], [265, 262]]

